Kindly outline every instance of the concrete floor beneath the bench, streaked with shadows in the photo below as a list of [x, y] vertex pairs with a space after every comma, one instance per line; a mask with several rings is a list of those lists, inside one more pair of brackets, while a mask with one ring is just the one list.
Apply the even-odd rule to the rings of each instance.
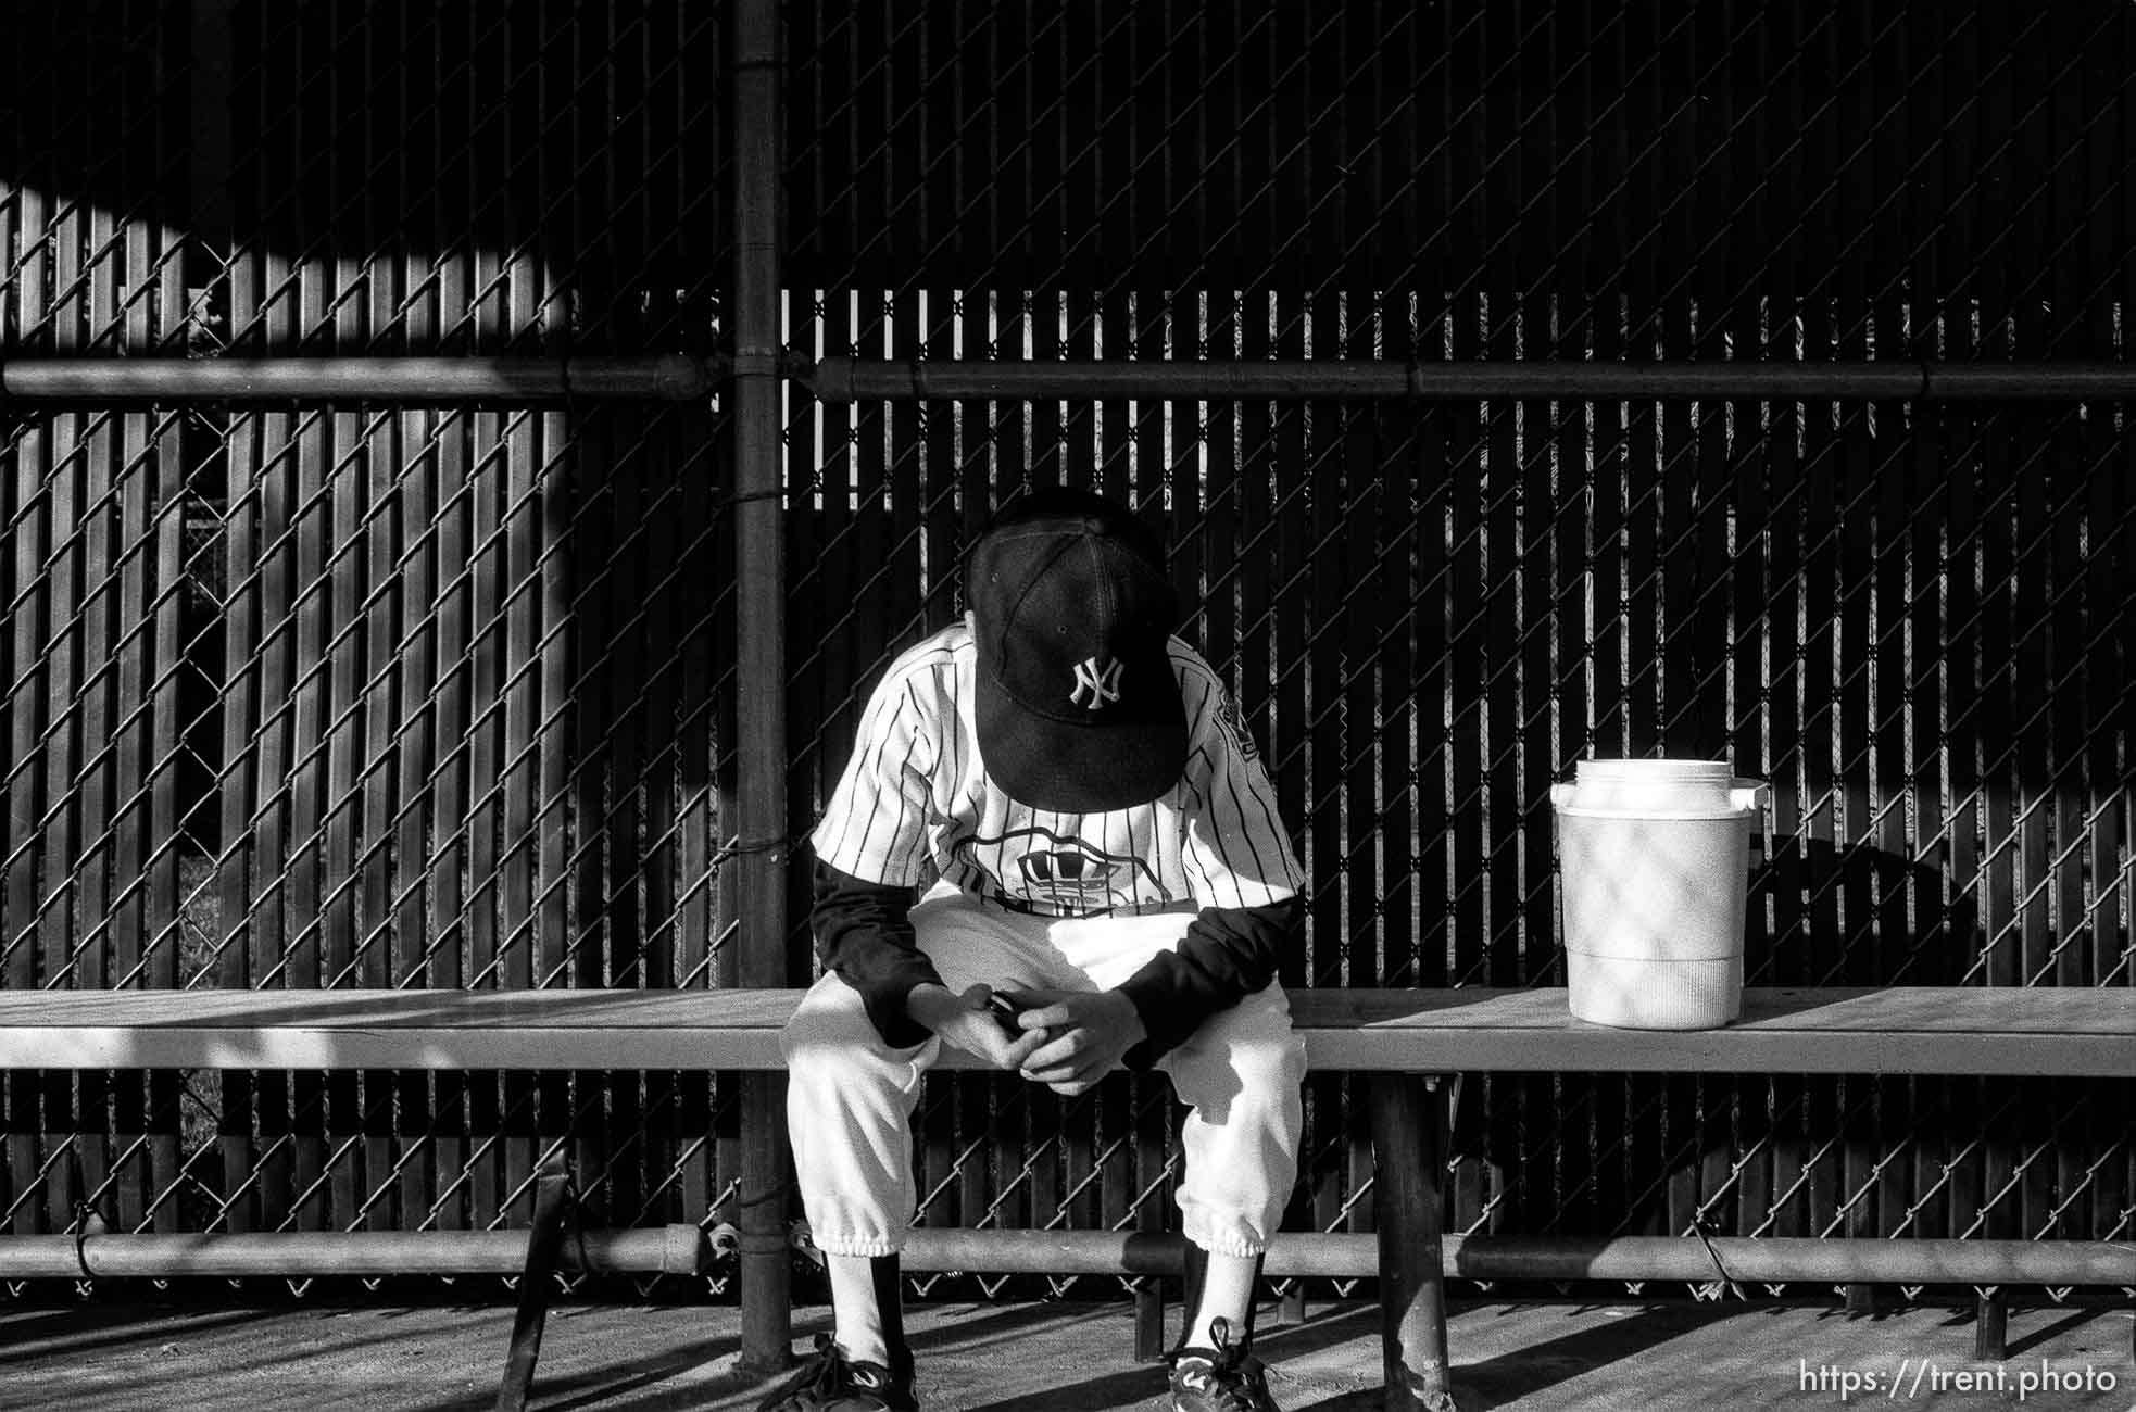
[[[797, 1346], [824, 1309], [795, 1318]], [[1177, 1307], [1173, 1309], [1177, 1318]], [[1506, 1408], [2136, 1408], [2130, 1312], [2010, 1314], [2010, 1359], [1972, 1361], [1969, 1312], [1848, 1316], [1784, 1303], [1457, 1303], [1463, 1412]], [[504, 1305], [0, 1303], [0, 1408], [235, 1412], [493, 1406], [513, 1322]], [[916, 1303], [910, 1333], [929, 1412], [1158, 1412], [1164, 1378], [1130, 1361], [1126, 1303]], [[534, 1408], [654, 1412], [754, 1408], [735, 1374], [728, 1305], [551, 1312]], [[1258, 1350], [1288, 1412], [1380, 1406], [1378, 1312], [1324, 1305], [1265, 1329]], [[1867, 1380], [1875, 1382], [1869, 1384]]]

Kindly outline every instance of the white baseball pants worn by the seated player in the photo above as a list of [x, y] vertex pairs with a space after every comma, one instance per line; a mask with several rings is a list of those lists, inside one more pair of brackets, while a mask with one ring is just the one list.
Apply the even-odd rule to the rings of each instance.
[[[918, 946], [953, 991], [1045, 987], [1102, 991], [1173, 951], [1192, 912], [1051, 919], [1008, 912], [955, 884], [912, 908]], [[839, 1256], [886, 1256], [904, 1245], [918, 1192], [912, 1111], [942, 1040], [891, 1049], [861, 993], [824, 974], [784, 1034], [786, 1124], [801, 1203], [816, 1245]], [[1290, 1030], [1279, 983], [1222, 1010], [1166, 1053], [1190, 1113], [1181, 1128], [1181, 1228], [1213, 1254], [1256, 1256], [1282, 1222], [1299, 1171], [1305, 1042]]]

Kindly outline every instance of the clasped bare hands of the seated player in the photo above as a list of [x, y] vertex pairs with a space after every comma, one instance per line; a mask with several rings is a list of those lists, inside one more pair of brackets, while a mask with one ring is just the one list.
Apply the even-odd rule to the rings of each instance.
[[1147, 1034], [1119, 991], [974, 985], [959, 995], [923, 983], [906, 998], [906, 1013], [942, 1042], [1070, 1098], [1117, 1068]]

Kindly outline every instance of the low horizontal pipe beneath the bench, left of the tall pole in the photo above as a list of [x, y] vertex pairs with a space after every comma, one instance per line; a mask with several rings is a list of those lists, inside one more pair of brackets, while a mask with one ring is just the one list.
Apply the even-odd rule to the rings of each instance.
[[[581, 1262], [583, 1250], [583, 1262]], [[564, 1235], [562, 1269], [596, 1275], [688, 1275], [705, 1265], [696, 1226]], [[0, 1239], [0, 1277], [167, 1275], [517, 1275], [525, 1230], [271, 1230], [248, 1235], [70, 1235]]]

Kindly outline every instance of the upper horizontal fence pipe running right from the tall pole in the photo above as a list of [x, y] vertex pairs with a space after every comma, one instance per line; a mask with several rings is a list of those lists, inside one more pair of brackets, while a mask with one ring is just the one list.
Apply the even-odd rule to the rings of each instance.
[[1173, 397], [1312, 399], [2085, 399], [2136, 397], [2136, 363], [871, 361], [795, 376], [822, 402]]

